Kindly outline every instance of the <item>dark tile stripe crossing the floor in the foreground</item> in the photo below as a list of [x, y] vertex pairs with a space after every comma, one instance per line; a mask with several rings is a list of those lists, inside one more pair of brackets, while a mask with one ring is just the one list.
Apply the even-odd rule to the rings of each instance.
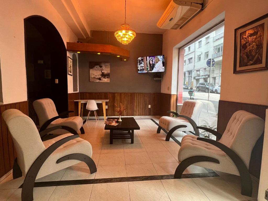
[[[215, 172], [193, 173], [193, 174], [183, 174], [181, 178], [185, 179], [185, 178], [218, 177], [218, 176], [219, 175]], [[176, 178], [174, 178], [174, 174], [167, 174], [167, 175], [139, 176], [139, 177], [81, 179], [81, 180], [65, 180], [65, 181], [42, 181], [42, 182], [35, 182], [34, 187], [103, 184], [103, 183], [115, 183], [115, 182], [126, 182], [126, 181], [151, 181], [151, 180], [165, 180], [165, 179], [176, 179]], [[22, 185], [19, 188], [22, 188]]]

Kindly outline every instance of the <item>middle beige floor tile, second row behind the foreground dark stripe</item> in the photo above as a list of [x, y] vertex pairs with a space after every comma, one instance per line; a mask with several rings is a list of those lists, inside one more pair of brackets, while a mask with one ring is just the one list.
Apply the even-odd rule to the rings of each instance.
[[147, 152], [125, 152], [126, 164], [152, 163]]

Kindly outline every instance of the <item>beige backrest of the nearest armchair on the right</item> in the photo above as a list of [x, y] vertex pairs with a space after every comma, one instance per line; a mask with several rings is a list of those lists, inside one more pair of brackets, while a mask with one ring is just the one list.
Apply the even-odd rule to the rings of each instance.
[[249, 167], [251, 151], [264, 131], [264, 120], [244, 110], [236, 111], [219, 140], [231, 148]]

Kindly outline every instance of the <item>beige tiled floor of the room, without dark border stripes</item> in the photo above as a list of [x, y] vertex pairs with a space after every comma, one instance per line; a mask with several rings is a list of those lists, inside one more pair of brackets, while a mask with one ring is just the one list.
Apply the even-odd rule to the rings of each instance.
[[[135, 131], [134, 144], [130, 140], [114, 140], [109, 144], [109, 131], [105, 131], [103, 120], [85, 123], [85, 134], [80, 135], [92, 144], [92, 159], [97, 172], [90, 174], [85, 163], [58, 171], [37, 181], [77, 180], [93, 178], [133, 177], [174, 174], [178, 166], [180, 146], [172, 139], [165, 141], [166, 134], [157, 134], [157, 117], [138, 117], [140, 130]], [[183, 133], [175, 132], [180, 141]], [[188, 167], [184, 173], [207, 173], [204, 168]], [[258, 182], [253, 182], [253, 197], [240, 194], [238, 176], [220, 174], [221, 177], [169, 179], [152, 181], [129, 181], [67, 185], [34, 188], [34, 200], [256, 200]], [[12, 180], [9, 175], [0, 183], [0, 201], [20, 200], [23, 178]]]

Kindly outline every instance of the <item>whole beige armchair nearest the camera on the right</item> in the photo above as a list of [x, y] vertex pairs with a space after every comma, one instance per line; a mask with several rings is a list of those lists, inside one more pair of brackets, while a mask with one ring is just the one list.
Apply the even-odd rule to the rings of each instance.
[[185, 135], [178, 152], [174, 177], [181, 178], [189, 165], [218, 170], [241, 176], [241, 194], [252, 195], [252, 181], [248, 172], [252, 149], [264, 131], [264, 120], [244, 110], [235, 112], [221, 135], [205, 127], [197, 127], [217, 136], [218, 141]]

